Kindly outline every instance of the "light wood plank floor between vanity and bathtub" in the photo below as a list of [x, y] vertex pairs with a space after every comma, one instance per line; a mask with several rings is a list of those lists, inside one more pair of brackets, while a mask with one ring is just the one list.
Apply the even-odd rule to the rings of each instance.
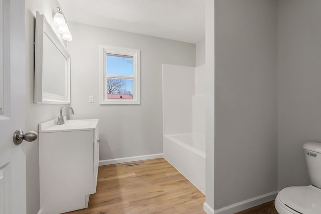
[[159, 158], [100, 166], [88, 208], [68, 213], [205, 213], [204, 201], [201, 191]]

